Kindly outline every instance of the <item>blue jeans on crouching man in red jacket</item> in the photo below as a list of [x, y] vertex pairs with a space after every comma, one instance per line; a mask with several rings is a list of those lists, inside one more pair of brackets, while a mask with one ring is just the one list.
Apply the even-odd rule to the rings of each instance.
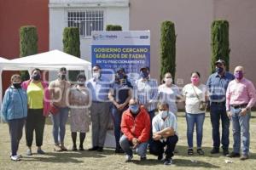
[[[125, 153], [128, 156], [132, 156], [132, 150], [131, 150], [132, 143], [127, 139], [125, 135], [122, 135], [119, 143], [121, 145], [121, 148], [125, 151]], [[135, 149], [135, 152], [137, 153], [138, 156], [145, 157], [147, 153], [147, 147], [148, 147], [147, 142], [138, 144], [137, 148]]]

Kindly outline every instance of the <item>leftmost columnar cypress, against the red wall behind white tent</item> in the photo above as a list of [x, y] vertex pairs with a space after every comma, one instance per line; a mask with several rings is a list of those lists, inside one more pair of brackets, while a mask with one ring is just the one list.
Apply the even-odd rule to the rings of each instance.
[[[20, 57], [38, 54], [38, 32], [36, 26], [20, 27]], [[28, 71], [20, 71], [22, 81], [28, 80]]]

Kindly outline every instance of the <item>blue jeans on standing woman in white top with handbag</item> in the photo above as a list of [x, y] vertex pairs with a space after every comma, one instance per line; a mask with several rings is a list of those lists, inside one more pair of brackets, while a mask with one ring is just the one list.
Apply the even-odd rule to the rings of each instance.
[[196, 127], [196, 146], [197, 148], [201, 148], [205, 113], [200, 113], [200, 114], [186, 113], [186, 120], [187, 120], [187, 139], [188, 139], [189, 148], [193, 148], [194, 127]]

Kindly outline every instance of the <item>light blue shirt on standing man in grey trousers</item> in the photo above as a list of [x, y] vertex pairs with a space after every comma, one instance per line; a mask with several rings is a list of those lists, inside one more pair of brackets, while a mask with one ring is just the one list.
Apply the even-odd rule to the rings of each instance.
[[107, 77], [101, 77], [98, 80], [91, 78], [86, 86], [90, 89], [93, 102], [104, 102], [108, 100], [108, 92], [113, 87], [113, 83]]

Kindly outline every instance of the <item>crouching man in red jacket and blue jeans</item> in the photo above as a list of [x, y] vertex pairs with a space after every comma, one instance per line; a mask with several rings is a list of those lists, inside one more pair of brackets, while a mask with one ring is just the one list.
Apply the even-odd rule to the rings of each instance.
[[132, 150], [135, 150], [141, 161], [146, 160], [148, 139], [150, 134], [150, 118], [148, 112], [139, 106], [136, 99], [130, 99], [129, 109], [123, 113], [121, 121], [123, 136], [119, 143], [126, 153], [126, 160], [131, 161]]

